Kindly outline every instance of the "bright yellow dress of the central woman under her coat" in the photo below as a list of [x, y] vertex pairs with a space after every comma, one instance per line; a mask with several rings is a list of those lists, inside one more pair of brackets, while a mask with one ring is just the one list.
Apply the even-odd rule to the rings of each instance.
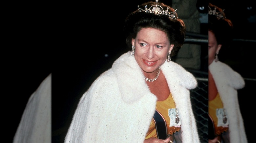
[[[156, 109], [160, 112], [160, 114], [164, 117], [164, 119], [166, 121], [167, 133], [170, 135], [173, 135], [173, 133], [178, 132], [181, 129], [181, 127], [175, 127], [175, 126], [169, 127], [170, 117], [168, 115], [168, 109], [170, 109], [170, 108], [176, 108], [175, 102], [172, 98], [171, 93], [169, 94], [167, 99], [165, 99], [163, 101], [157, 101]], [[155, 122], [153, 119], [151, 120], [150, 127], [149, 127], [149, 130], [147, 132], [145, 139], [148, 139], [151, 137], [157, 138], [156, 125], [155, 125]]]

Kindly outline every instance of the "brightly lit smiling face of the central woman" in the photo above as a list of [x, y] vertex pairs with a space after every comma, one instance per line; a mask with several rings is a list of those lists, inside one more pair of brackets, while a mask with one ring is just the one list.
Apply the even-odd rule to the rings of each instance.
[[137, 63], [147, 73], [158, 70], [174, 46], [165, 32], [155, 28], [141, 28], [136, 38], [132, 39], [132, 45], [135, 46]]

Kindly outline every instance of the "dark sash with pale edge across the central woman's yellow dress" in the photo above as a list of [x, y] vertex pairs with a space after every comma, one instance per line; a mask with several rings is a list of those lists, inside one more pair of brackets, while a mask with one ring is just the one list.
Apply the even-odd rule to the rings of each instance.
[[157, 130], [157, 137], [159, 139], [166, 139], [167, 137], [167, 126], [166, 121], [163, 118], [163, 116], [159, 113], [159, 111], [156, 109], [153, 120], [156, 125]]

